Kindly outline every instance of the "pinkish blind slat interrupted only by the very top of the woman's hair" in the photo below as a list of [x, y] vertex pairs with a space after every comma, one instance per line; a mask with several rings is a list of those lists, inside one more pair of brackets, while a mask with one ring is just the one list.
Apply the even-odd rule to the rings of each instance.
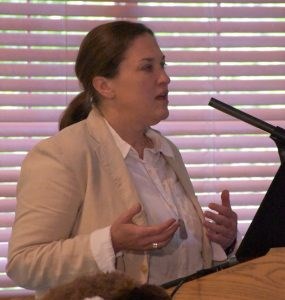
[[[86, 32], [106, 21], [94, 20], [52, 20], [52, 19], [13, 19], [1, 18], [0, 27], [2, 30], [20, 30], [20, 31], [73, 31]], [[160, 32], [180, 32], [180, 33], [216, 33], [216, 32], [250, 32], [250, 33], [284, 33], [285, 22], [234, 22], [234, 21], [213, 21], [207, 22], [174, 22], [174, 21], [148, 21], [144, 23], [157, 33]]]

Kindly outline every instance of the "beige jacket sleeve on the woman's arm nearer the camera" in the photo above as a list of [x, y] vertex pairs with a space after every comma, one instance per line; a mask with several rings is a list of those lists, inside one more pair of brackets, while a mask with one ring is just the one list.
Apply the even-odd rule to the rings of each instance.
[[6, 266], [19, 286], [45, 290], [98, 271], [90, 234], [72, 234], [83, 199], [63, 149], [45, 141], [28, 154], [17, 186]]

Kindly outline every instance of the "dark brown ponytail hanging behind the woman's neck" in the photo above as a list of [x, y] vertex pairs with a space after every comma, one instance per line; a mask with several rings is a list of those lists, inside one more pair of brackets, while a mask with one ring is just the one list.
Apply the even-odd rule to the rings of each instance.
[[63, 112], [59, 120], [59, 130], [86, 119], [91, 109], [90, 97], [85, 91], [81, 92], [69, 103]]

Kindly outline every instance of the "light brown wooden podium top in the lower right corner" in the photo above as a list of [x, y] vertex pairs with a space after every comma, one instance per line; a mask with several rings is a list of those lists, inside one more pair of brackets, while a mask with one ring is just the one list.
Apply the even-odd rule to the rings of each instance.
[[[175, 287], [167, 289], [171, 294]], [[184, 283], [175, 300], [285, 300], [285, 247]]]

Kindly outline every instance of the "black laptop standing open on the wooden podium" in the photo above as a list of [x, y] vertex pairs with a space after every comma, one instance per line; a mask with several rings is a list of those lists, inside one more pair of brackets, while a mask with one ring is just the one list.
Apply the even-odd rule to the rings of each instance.
[[179, 287], [187, 281], [266, 255], [271, 248], [275, 247], [285, 247], [285, 163], [281, 164], [274, 176], [235, 257], [220, 265], [202, 269], [161, 286], [166, 289]]

